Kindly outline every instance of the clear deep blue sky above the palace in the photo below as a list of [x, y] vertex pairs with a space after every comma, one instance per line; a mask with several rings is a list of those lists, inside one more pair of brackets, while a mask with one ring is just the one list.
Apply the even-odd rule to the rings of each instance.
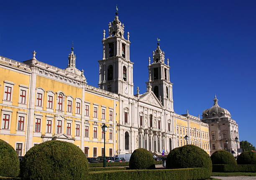
[[134, 87], [146, 91], [148, 57], [156, 38], [169, 58], [174, 111], [202, 115], [213, 105], [231, 113], [240, 140], [256, 145], [256, 1], [3, 1], [0, 55], [66, 68], [71, 43], [77, 68], [98, 84], [102, 32], [115, 16], [130, 32]]

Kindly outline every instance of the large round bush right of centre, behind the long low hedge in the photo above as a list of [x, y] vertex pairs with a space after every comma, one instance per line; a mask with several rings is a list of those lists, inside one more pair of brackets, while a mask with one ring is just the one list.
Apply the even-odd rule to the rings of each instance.
[[166, 158], [166, 168], [189, 168], [189, 167], [203, 167], [210, 177], [212, 172], [212, 161], [210, 156], [195, 145], [185, 145], [177, 147], [169, 152]]

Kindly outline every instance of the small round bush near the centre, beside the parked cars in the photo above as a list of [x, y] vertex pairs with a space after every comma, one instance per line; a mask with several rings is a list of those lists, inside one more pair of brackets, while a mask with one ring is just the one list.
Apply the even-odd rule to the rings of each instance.
[[131, 154], [129, 167], [132, 170], [155, 169], [155, 160], [148, 150], [139, 148]]

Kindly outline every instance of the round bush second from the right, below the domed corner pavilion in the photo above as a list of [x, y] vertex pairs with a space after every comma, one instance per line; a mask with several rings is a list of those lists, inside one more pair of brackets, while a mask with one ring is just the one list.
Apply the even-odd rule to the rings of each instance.
[[236, 165], [236, 158], [228, 151], [218, 150], [211, 155], [213, 165]]

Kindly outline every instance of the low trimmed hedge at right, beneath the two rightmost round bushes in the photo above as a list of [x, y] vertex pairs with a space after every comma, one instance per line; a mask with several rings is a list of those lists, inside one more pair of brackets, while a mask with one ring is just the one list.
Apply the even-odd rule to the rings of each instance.
[[256, 165], [212, 165], [212, 172], [256, 172]]

